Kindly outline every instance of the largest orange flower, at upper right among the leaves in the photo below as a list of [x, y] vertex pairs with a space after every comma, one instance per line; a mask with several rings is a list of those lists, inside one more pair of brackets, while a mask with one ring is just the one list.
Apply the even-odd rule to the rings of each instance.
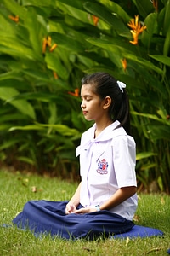
[[130, 20], [127, 25], [130, 26], [130, 28], [132, 28], [130, 32], [132, 33], [133, 41], [130, 41], [130, 43], [138, 44], [139, 34], [146, 29], [146, 26], [142, 26], [141, 23], [139, 22], [139, 15], [135, 15], [135, 19]]

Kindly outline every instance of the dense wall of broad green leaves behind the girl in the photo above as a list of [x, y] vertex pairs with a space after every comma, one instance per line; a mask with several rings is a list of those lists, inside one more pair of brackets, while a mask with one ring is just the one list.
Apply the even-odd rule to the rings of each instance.
[[[78, 173], [74, 152], [90, 124], [68, 91], [80, 89], [84, 73], [102, 70], [127, 84], [140, 188], [155, 180], [170, 192], [170, 0], [143, 2], [2, 0], [2, 162]], [[136, 45], [127, 26], [135, 15], [147, 27]]]

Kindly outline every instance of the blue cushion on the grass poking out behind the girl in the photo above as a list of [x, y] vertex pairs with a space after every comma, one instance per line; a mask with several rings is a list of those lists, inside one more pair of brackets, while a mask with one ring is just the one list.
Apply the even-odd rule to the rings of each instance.
[[111, 236], [111, 238], [125, 239], [127, 237], [135, 238], [135, 237], [149, 237], [149, 236], [163, 236], [163, 232], [161, 230], [157, 230], [149, 227], [134, 225], [132, 230], [123, 234]]

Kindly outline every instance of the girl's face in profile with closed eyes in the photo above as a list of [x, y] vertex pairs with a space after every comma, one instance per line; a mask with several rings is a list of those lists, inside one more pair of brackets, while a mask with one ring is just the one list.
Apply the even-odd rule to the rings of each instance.
[[81, 89], [82, 97], [82, 113], [88, 121], [99, 120], [105, 114], [105, 99], [101, 100], [100, 97], [94, 93], [91, 84], [83, 84]]

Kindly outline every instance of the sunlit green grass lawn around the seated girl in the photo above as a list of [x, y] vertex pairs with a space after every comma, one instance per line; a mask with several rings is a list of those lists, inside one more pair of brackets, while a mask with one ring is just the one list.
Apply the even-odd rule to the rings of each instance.
[[[37, 192], [32, 192], [36, 187]], [[58, 178], [39, 177], [0, 171], [0, 224], [11, 224], [29, 200], [63, 201], [71, 197], [76, 183]], [[37, 239], [29, 231], [0, 228], [0, 255], [167, 255], [170, 247], [170, 197], [168, 195], [139, 195], [136, 224], [162, 230], [165, 236], [133, 240], [98, 239], [96, 241], [65, 241], [43, 236]], [[138, 221], [137, 221], [138, 220]]]

